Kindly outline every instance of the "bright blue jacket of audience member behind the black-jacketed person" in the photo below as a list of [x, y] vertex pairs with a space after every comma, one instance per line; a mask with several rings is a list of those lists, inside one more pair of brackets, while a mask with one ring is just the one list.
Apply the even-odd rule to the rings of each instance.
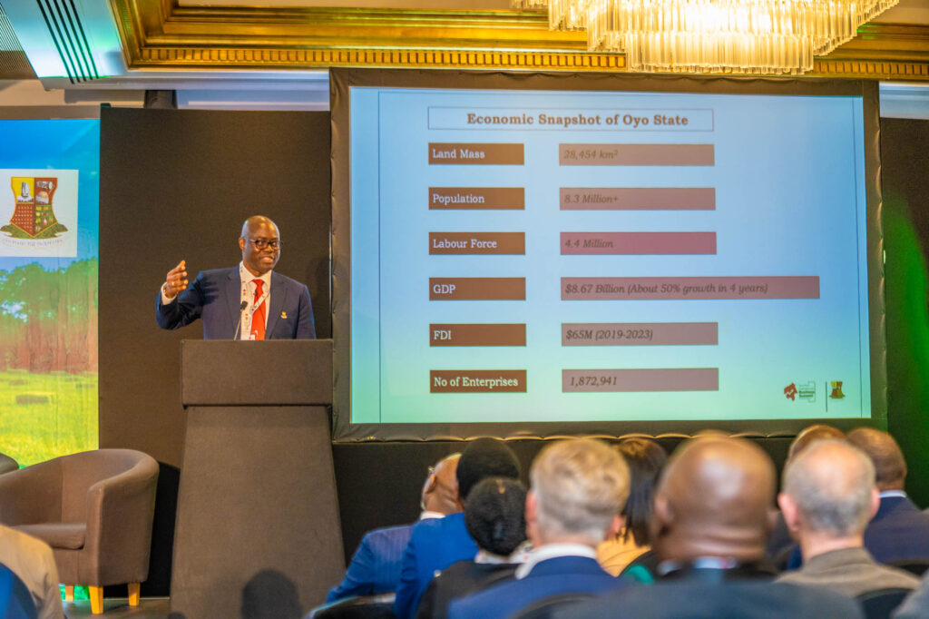
[[394, 601], [398, 619], [413, 616], [425, 587], [438, 570], [458, 561], [472, 560], [477, 554], [478, 545], [464, 526], [463, 512], [414, 524], [410, 543], [403, 552], [400, 584]]

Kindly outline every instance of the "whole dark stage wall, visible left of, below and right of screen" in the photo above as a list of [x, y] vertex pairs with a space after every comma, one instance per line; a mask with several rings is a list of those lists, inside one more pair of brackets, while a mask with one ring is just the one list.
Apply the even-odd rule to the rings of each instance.
[[[199, 326], [164, 332], [154, 302], [164, 273], [232, 266], [242, 219], [281, 226], [279, 270], [310, 288], [317, 332], [329, 313], [330, 163], [326, 112], [103, 110], [100, 179], [100, 446], [130, 447], [163, 463], [147, 595], [166, 594], [184, 429], [178, 343]], [[890, 429], [929, 504], [929, 326], [922, 247], [929, 242], [929, 123], [882, 122]], [[273, 368], [255, 368], [255, 379]], [[673, 447], [679, 439], [662, 442]], [[780, 465], [789, 439], [759, 441]], [[528, 468], [540, 441], [511, 443]], [[334, 446], [347, 555], [373, 527], [418, 514], [426, 468], [451, 442]], [[235, 454], [229, 454], [234, 458]], [[525, 473], [525, 471], [524, 471]]]

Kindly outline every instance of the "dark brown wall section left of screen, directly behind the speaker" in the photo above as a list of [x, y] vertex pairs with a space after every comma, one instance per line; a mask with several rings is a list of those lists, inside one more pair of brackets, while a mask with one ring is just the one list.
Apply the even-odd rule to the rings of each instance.
[[101, 110], [100, 446], [162, 463], [143, 593], [167, 592], [184, 436], [179, 344], [203, 337], [199, 323], [155, 324], [165, 273], [181, 258], [191, 278], [238, 264], [242, 220], [266, 215], [281, 229], [277, 270], [309, 286], [317, 334], [331, 337], [329, 167], [328, 112]]

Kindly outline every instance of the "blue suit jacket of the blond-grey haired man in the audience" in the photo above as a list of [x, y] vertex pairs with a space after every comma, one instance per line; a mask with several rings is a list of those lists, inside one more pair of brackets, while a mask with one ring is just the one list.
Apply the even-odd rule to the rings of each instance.
[[[506, 619], [531, 603], [568, 593], [606, 593], [624, 588], [626, 581], [607, 572], [587, 557], [556, 557], [535, 564], [521, 580], [501, 585], [451, 602], [449, 619]], [[645, 617], [626, 614], [623, 617]]]

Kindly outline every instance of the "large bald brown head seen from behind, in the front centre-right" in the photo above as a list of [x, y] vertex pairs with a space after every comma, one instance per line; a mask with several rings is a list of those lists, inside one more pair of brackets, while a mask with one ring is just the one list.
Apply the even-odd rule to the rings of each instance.
[[655, 495], [652, 546], [662, 560], [759, 560], [770, 531], [776, 474], [757, 445], [717, 435], [684, 443]]

